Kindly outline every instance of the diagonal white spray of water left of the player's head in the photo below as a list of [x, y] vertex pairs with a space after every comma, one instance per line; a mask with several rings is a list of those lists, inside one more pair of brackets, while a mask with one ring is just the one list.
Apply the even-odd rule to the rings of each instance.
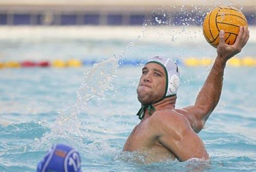
[[76, 140], [78, 145], [82, 143], [83, 133], [80, 130], [81, 121], [78, 115], [83, 110], [88, 110], [87, 105], [92, 99], [100, 100], [106, 91], [114, 90], [112, 82], [117, 72], [118, 60], [125, 56], [126, 51], [131, 49], [145, 33], [146, 29], [143, 26], [141, 34], [130, 42], [119, 56], [114, 55], [107, 60], [102, 60], [84, 73], [84, 81], [76, 91], [76, 102], [59, 113], [50, 127], [50, 132], [45, 133], [40, 139], [35, 139], [31, 146], [33, 149], [47, 149], [56, 141], [63, 139]]

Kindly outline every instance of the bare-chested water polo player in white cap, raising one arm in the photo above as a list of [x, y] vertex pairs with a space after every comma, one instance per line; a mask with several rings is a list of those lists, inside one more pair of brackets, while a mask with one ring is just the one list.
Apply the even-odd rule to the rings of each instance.
[[123, 151], [144, 153], [146, 162], [177, 158], [208, 159], [204, 144], [197, 135], [217, 106], [226, 62], [241, 52], [249, 38], [246, 27], [240, 27], [233, 45], [225, 43], [220, 32], [217, 58], [193, 106], [175, 109], [180, 84], [178, 66], [170, 59], [154, 57], [142, 68], [137, 88], [141, 119], [127, 138]]

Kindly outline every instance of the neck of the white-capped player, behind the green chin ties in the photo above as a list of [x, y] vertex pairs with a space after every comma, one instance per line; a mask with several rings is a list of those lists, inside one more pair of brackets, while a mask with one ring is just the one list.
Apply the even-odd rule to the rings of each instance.
[[[163, 100], [153, 103], [152, 105], [157, 110], [168, 108], [168, 109], [174, 109], [175, 103], [176, 103], [177, 96], [174, 95], [172, 97], [166, 97]], [[152, 112], [153, 113], [153, 112]], [[145, 110], [145, 116], [144, 118], [150, 117], [151, 115], [148, 113], [148, 109]]]

